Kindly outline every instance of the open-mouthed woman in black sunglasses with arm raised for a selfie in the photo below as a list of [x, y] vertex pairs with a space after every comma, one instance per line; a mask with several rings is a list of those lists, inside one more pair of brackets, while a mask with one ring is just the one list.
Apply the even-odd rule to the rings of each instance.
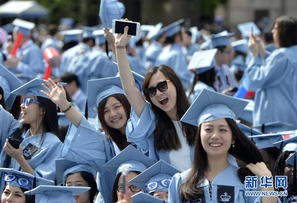
[[128, 141], [149, 150], [154, 161], [163, 160], [184, 171], [192, 165], [197, 127], [179, 121], [190, 106], [183, 85], [171, 67], [152, 67], [142, 85], [143, 98], [126, 56], [128, 29], [115, 41], [123, 89], [133, 108], [126, 128]]

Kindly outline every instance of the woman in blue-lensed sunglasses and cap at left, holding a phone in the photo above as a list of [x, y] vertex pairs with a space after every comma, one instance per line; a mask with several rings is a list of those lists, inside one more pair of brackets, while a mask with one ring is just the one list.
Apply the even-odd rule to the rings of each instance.
[[34, 79], [12, 92], [25, 96], [20, 105], [20, 121], [1, 109], [0, 115], [6, 114], [5, 119], [9, 122], [0, 130], [13, 131], [10, 137], [19, 140], [20, 145], [13, 145], [7, 137], [2, 137], [6, 142], [0, 152], [0, 166], [54, 180], [55, 159], [60, 157], [62, 143], [58, 138], [57, 107], [40, 93], [42, 83], [43, 80]]

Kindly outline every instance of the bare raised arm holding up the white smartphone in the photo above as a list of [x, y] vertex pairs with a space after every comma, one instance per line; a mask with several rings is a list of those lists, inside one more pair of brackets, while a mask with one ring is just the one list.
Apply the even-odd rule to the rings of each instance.
[[[125, 19], [128, 21], [128, 19]], [[128, 35], [128, 26], [124, 28], [123, 35], [117, 35], [115, 40], [116, 57], [118, 62], [118, 69], [123, 85], [124, 92], [128, 98], [132, 108], [136, 112], [138, 118], [141, 116], [145, 106], [145, 100], [137, 87], [135, 86], [134, 77], [132, 75], [130, 65], [128, 63], [127, 52], [125, 49], [126, 43], [131, 38]]]

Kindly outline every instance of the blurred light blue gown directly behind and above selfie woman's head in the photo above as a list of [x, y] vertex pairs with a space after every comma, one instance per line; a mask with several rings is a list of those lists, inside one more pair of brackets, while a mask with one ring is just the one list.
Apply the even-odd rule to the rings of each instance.
[[187, 70], [188, 60], [179, 44], [174, 43], [171, 46], [166, 46], [162, 49], [155, 65], [158, 66], [161, 64], [170, 66], [181, 79], [184, 88], [189, 88], [193, 74]]

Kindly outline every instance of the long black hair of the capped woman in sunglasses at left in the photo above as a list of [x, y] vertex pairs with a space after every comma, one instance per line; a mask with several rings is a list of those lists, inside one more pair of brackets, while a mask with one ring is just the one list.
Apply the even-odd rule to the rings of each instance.
[[[43, 117], [41, 118], [41, 126], [40, 129], [42, 130], [42, 136], [40, 145], [43, 145], [44, 142], [44, 136], [47, 132], [52, 132], [55, 134], [58, 138], [60, 136], [59, 133], [59, 125], [58, 125], [58, 114], [57, 114], [57, 106], [54, 104], [50, 99], [44, 98], [44, 97], [36, 97], [36, 100], [40, 102], [41, 106], [39, 108], [43, 108], [45, 113], [43, 114]], [[37, 123], [37, 121], [36, 121]], [[22, 134], [25, 133], [27, 130], [30, 129], [29, 124], [22, 124], [13, 134], [11, 137], [22, 140]], [[60, 139], [60, 138], [59, 138]], [[6, 161], [5, 161], [5, 167], [9, 168], [11, 161], [11, 156], [6, 154]]]

